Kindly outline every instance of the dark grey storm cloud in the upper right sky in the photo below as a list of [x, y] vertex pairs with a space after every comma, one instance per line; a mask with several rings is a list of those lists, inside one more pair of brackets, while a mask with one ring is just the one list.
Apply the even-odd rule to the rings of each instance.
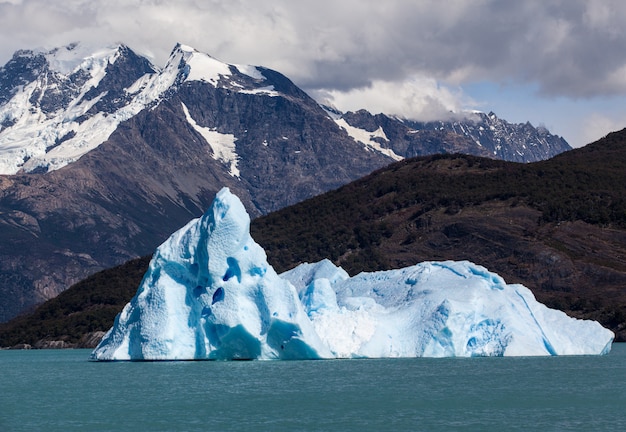
[[457, 84], [536, 83], [549, 95], [626, 91], [626, 36], [619, 25], [626, 22], [626, 2], [427, 3], [398, 3], [383, 16], [363, 16], [360, 27], [343, 35], [352, 43], [341, 42], [350, 49], [339, 61], [312, 61], [320, 81], [310, 85], [347, 87], [419, 71]]

